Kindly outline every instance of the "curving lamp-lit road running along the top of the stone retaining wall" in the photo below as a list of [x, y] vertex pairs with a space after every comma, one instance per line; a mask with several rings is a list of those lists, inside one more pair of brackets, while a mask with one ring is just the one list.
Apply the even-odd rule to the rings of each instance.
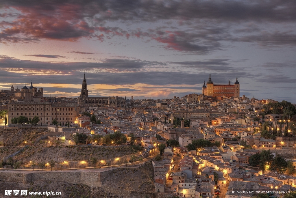
[[[150, 155], [149, 157], [147, 158], [144, 158], [142, 162], [140, 161], [136, 161], [135, 163], [129, 163], [127, 165], [125, 164], [121, 164], [121, 165], [113, 165], [113, 166], [101, 166], [101, 167], [96, 167], [96, 170], [100, 170], [100, 169], [110, 169], [110, 168], [118, 168], [118, 167], [129, 167], [129, 168], [136, 168], [138, 166], [140, 166], [141, 164], [143, 164], [144, 162], [147, 162], [149, 160], [152, 160], [154, 159], [155, 157], [157, 156], [157, 153], [156, 154], [153, 154], [153, 155]], [[34, 171], [74, 171], [74, 170], [88, 170], [88, 169], [94, 169], [94, 167], [86, 167], [86, 168], [58, 168], [58, 169], [34, 169]], [[4, 169], [4, 168], [0, 168], [0, 171], [14, 171], [14, 169]], [[32, 172], [33, 169], [17, 169], [16, 171], [30, 171]]]

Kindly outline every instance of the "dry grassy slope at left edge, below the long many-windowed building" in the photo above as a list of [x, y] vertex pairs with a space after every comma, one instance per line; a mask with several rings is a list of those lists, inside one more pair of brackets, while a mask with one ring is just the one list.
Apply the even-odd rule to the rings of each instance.
[[37, 137], [47, 134], [46, 128], [19, 128], [19, 129], [1, 129], [0, 130], [0, 145], [19, 146], [35, 142]]

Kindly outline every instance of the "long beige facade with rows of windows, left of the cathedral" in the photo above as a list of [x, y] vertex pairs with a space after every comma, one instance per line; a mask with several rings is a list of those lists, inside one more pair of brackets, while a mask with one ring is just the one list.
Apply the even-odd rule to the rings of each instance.
[[11, 118], [25, 116], [32, 118], [38, 116], [38, 126], [50, 125], [55, 119], [62, 125], [75, 123], [79, 116], [78, 105], [75, 103], [48, 103], [48, 102], [12, 102], [8, 107], [9, 121]]

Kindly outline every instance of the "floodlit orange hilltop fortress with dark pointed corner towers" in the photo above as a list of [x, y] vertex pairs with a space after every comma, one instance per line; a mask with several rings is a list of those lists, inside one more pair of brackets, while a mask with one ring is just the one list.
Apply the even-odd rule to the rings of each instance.
[[210, 75], [207, 85], [205, 85], [204, 82], [204, 85], [202, 86], [202, 94], [214, 97], [239, 98], [239, 82], [236, 79], [234, 85], [231, 85], [229, 79], [228, 85], [215, 85]]

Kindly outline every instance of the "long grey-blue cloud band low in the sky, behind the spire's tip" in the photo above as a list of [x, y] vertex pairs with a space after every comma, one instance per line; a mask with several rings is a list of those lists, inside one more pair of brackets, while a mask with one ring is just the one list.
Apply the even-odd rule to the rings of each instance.
[[[17, 66], [17, 67], [16, 67]], [[168, 66], [157, 61], [141, 61], [129, 59], [103, 59], [100, 63], [86, 62], [44, 62], [26, 61], [13, 58], [0, 59], [0, 82], [23, 83], [28, 78], [42, 83], [80, 84], [83, 72], [89, 84], [127, 85], [144, 83], [148, 85], [196, 85], [207, 79], [208, 73], [200, 70], [198, 73], [185, 71], [143, 71], [144, 68]], [[206, 70], [206, 69], [205, 69]], [[245, 71], [229, 70], [215, 71], [212, 80], [215, 83], [228, 83], [235, 76], [258, 77], [260, 74], [250, 74]], [[184, 80], [186, 79], [186, 80]]]

